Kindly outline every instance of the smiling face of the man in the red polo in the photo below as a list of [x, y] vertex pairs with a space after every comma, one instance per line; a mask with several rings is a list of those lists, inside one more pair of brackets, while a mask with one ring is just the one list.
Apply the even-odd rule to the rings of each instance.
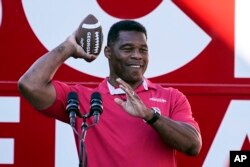
[[121, 31], [118, 40], [110, 46], [110, 77], [122, 78], [128, 83], [141, 82], [148, 65], [148, 46], [144, 33]]

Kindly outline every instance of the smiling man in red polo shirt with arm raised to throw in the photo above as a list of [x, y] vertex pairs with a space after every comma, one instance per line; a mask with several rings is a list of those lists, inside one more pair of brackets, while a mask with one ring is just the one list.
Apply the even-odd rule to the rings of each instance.
[[[77, 92], [83, 114], [89, 110], [91, 94], [101, 93], [104, 112], [98, 126], [86, 136], [90, 167], [174, 167], [175, 150], [197, 155], [201, 136], [186, 97], [177, 89], [164, 89], [144, 78], [148, 65], [145, 27], [132, 20], [115, 23], [104, 54], [110, 74], [97, 88], [53, 80], [70, 56], [87, 62], [96, 58], [84, 52], [73, 33], [30, 67], [20, 78], [19, 89], [37, 110], [66, 123], [69, 92]], [[79, 119], [76, 129], [81, 131]]]

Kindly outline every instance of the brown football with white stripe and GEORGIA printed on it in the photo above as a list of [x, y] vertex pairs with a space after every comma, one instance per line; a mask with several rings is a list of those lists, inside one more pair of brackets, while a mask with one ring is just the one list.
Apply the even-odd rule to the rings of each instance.
[[88, 54], [99, 55], [102, 49], [103, 32], [98, 19], [89, 14], [76, 31], [76, 41]]

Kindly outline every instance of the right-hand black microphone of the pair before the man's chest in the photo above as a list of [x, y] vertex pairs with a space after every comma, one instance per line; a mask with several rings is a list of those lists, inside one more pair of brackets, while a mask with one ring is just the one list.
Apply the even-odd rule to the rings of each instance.
[[103, 106], [102, 106], [102, 97], [99, 92], [94, 92], [91, 95], [90, 100], [90, 116], [94, 116], [94, 123], [98, 123], [99, 116], [102, 114]]

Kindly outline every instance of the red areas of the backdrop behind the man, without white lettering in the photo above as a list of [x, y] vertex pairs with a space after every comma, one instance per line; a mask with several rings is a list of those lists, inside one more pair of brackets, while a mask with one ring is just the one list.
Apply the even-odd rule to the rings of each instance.
[[[211, 41], [188, 64], [150, 79], [165, 87], [173, 86], [183, 91], [190, 100], [193, 114], [201, 128], [203, 148], [200, 155], [188, 157], [178, 153], [178, 165], [206, 166], [205, 160], [210, 156], [208, 152], [213, 149], [212, 144], [216, 142], [215, 136], [222, 126], [222, 120], [230, 103], [233, 100], [250, 101], [250, 77], [236, 78], [234, 75], [235, 2], [233, 0], [173, 0], [173, 2], [211, 37]], [[161, 1], [99, 0], [98, 3], [113, 17], [137, 18], [150, 13], [160, 5]], [[130, 12], [127, 12], [127, 8]], [[26, 19], [21, 1], [2, 0], [0, 96], [14, 96], [21, 99], [20, 120], [0, 122], [0, 139], [14, 139], [13, 164], [1, 164], [0, 161], [0, 166], [54, 166], [55, 120], [35, 112], [17, 90], [19, 77], [45, 52], [47, 49], [39, 42]], [[67, 65], [63, 65], [55, 77], [67, 82], [81, 82], [91, 87], [96, 86], [101, 80], [99, 77], [84, 74]], [[5, 114], [4, 112], [8, 111], [0, 111], [0, 117], [1, 114]], [[232, 134], [234, 133], [237, 134], [232, 131]], [[247, 135], [246, 132], [239, 150], [250, 149]], [[234, 144], [227, 142], [224, 144], [229, 148], [228, 155], [224, 152], [218, 152], [218, 155], [225, 154], [224, 157], [229, 157], [230, 149], [235, 149]], [[225, 162], [225, 165], [227, 164], [228, 162]]]

